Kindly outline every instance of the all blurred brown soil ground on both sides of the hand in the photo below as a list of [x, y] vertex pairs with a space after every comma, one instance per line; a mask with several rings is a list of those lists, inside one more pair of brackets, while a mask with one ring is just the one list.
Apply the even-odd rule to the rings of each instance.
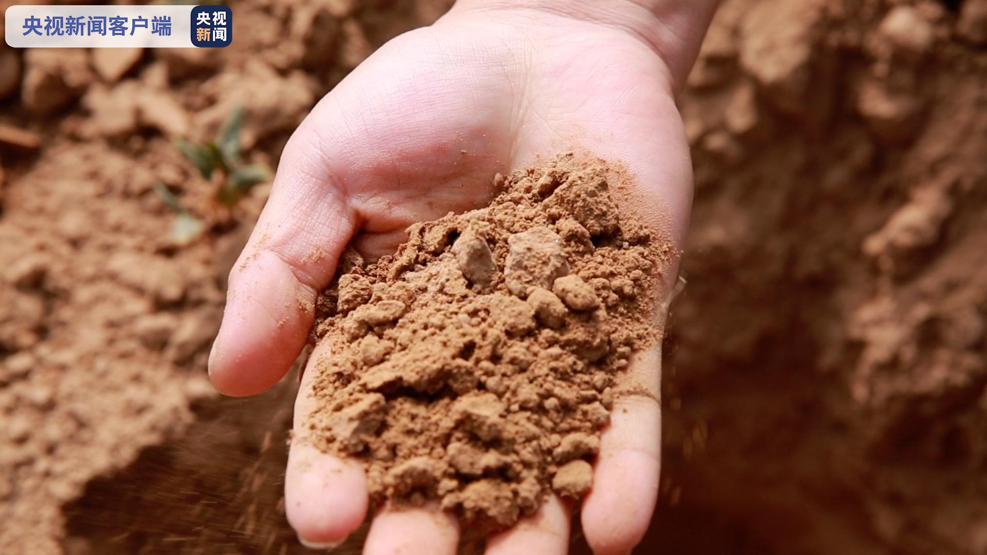
[[[303, 551], [279, 507], [294, 382], [231, 400], [204, 378], [266, 188], [178, 248], [152, 186], [203, 205], [170, 139], [237, 103], [273, 165], [444, 2], [233, 9], [222, 51], [0, 49], [0, 552]], [[985, 18], [725, 0], [681, 100], [696, 206], [643, 552], [987, 550]]]

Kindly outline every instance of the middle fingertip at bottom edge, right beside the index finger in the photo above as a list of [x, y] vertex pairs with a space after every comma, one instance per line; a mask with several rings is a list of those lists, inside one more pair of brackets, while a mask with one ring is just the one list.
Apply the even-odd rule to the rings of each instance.
[[455, 554], [459, 523], [435, 506], [389, 509], [376, 515], [363, 545], [364, 555]]

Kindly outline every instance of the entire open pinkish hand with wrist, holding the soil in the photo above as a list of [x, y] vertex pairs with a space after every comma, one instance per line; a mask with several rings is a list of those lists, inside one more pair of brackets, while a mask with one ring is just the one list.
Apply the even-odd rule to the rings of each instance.
[[[638, 187], [635, 208], [678, 252], [692, 167], [674, 93], [715, 4], [461, 0], [433, 26], [382, 46], [284, 148], [230, 275], [209, 359], [217, 389], [252, 395], [284, 375], [307, 341], [317, 291], [350, 240], [369, 258], [393, 251], [409, 224], [485, 204], [493, 185], [480, 184], [539, 157], [573, 150], [625, 164]], [[599, 555], [630, 551], [654, 508], [659, 363], [651, 351], [631, 365], [625, 385], [654, 397], [619, 397], [602, 436], [580, 511]], [[331, 547], [367, 515], [366, 484], [358, 463], [305, 440], [308, 387], [303, 380], [296, 400], [285, 508], [304, 543]], [[488, 553], [566, 553], [573, 509], [550, 497], [536, 515], [488, 538]], [[455, 518], [434, 508], [383, 511], [364, 553], [455, 553], [458, 536]]]

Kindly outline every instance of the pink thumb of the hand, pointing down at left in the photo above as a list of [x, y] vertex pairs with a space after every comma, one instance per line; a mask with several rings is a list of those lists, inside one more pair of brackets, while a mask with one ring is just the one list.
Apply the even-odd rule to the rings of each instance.
[[[327, 145], [303, 123], [284, 147], [264, 211], [230, 272], [209, 377], [227, 395], [276, 383], [305, 347], [316, 297], [356, 229]], [[314, 154], [313, 154], [314, 153]]]

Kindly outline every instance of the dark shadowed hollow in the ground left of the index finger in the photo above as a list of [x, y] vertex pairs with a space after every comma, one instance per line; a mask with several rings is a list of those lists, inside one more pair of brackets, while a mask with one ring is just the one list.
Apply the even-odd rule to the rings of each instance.
[[[90, 481], [62, 508], [70, 555], [306, 552], [279, 486], [293, 382], [259, 399], [193, 402], [181, 435]], [[217, 461], [219, 461], [217, 463]], [[296, 547], [297, 546], [297, 547]]]

